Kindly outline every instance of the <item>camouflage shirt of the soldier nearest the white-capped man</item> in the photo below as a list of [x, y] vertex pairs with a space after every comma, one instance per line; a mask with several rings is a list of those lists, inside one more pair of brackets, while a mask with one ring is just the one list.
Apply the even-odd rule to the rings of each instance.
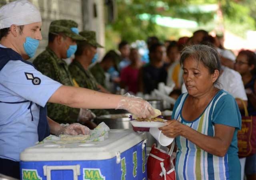
[[[36, 57], [33, 64], [37, 70], [53, 80], [66, 86], [74, 86], [66, 62], [59, 59], [50, 48], [46, 47], [46, 50]], [[72, 123], [78, 119], [80, 111], [78, 108], [55, 103], [47, 103], [47, 106], [48, 116], [58, 123]]]

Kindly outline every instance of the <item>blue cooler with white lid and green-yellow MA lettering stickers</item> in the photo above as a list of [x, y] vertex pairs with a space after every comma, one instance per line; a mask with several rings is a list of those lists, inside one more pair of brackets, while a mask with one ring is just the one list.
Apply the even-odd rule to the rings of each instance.
[[22, 180], [147, 180], [145, 134], [110, 130], [102, 142], [26, 148], [20, 154]]

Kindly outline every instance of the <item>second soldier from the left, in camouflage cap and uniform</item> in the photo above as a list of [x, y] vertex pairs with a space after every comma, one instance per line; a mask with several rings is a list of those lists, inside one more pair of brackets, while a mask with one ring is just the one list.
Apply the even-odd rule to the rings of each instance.
[[[109, 93], [108, 90], [96, 81], [92, 73], [88, 70], [92, 60], [96, 59], [96, 49], [103, 48], [103, 46], [96, 42], [96, 33], [94, 31], [84, 30], [79, 34], [87, 40], [77, 43], [76, 58], [68, 67], [72, 77], [82, 88]], [[92, 112], [96, 114], [96, 116], [109, 114], [108, 111], [104, 109], [94, 109]]]

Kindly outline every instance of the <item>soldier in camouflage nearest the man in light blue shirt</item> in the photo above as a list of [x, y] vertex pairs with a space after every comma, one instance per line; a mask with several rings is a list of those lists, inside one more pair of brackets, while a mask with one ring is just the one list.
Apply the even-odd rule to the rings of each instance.
[[[62, 59], [69, 58], [76, 51], [76, 41], [85, 40], [78, 34], [78, 24], [72, 20], [51, 22], [48, 34], [48, 46], [39, 54], [33, 64], [42, 74], [66, 86], [74, 86], [68, 66]], [[59, 123], [76, 122], [81, 115], [79, 108], [70, 108], [61, 104], [47, 103], [50, 118]], [[84, 112], [84, 111], [83, 111]], [[82, 117], [82, 116], [81, 116]], [[84, 119], [83, 119], [84, 120]]]

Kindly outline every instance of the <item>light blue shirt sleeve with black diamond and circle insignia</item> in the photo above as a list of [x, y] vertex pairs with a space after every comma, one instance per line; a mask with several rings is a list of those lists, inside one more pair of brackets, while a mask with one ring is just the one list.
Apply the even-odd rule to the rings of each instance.
[[44, 76], [33, 66], [19, 60], [10, 60], [0, 71], [0, 83], [10, 93], [45, 106], [54, 92], [62, 86]]

